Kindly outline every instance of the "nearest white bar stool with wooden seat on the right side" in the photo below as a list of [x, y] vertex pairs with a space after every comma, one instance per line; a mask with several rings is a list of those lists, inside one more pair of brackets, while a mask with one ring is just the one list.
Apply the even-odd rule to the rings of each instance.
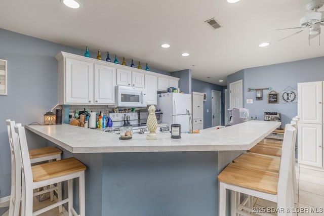
[[[241, 167], [235, 162], [225, 167], [218, 175], [220, 188], [219, 215], [226, 215], [226, 189], [277, 202], [278, 209], [292, 208], [294, 206], [294, 192], [291, 184], [292, 172], [289, 170], [292, 166], [292, 149], [295, 142], [296, 129], [291, 124], [287, 124], [282, 145], [284, 154], [282, 154], [280, 160], [279, 175], [260, 169]], [[236, 215], [236, 213], [247, 214], [240, 209], [251, 211], [246, 206], [239, 204], [237, 206], [236, 203], [232, 203], [232, 205], [236, 206], [232, 208], [234, 209], [232, 215]], [[278, 212], [278, 216], [281, 215], [292, 214], [283, 211]]]

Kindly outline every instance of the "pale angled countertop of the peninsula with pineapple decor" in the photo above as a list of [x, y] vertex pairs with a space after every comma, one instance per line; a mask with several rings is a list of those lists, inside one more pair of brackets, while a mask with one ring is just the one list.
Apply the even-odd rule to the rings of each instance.
[[207, 128], [200, 134], [157, 134], [157, 140], [133, 134], [131, 140], [119, 140], [119, 135], [72, 126], [26, 125], [25, 128], [72, 153], [107, 152], [173, 152], [173, 151], [233, 151], [249, 150], [280, 125], [276, 121], [247, 121], [216, 129]]

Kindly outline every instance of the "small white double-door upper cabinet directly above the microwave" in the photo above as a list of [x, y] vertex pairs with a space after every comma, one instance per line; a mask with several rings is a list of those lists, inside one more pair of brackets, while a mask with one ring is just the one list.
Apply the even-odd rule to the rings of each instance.
[[144, 88], [144, 73], [118, 68], [117, 85]]

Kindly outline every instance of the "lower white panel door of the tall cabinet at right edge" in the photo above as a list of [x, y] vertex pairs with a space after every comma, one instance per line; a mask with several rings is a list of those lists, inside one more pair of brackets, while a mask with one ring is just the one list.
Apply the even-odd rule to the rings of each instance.
[[298, 163], [322, 167], [322, 124], [298, 123]]

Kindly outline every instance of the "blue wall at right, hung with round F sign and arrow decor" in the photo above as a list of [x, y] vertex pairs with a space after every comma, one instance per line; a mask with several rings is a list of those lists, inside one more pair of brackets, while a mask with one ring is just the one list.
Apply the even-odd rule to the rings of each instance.
[[[243, 104], [249, 109], [250, 116], [263, 120], [264, 112], [280, 112], [282, 125], [285, 125], [297, 115], [297, 103], [282, 103], [280, 100], [278, 104], [268, 104], [267, 90], [263, 90], [263, 100], [256, 101], [256, 93], [248, 92], [248, 89], [271, 87], [281, 96], [287, 87], [297, 90], [298, 82], [324, 80], [324, 57], [240, 70], [228, 76], [228, 83], [239, 79], [243, 80]], [[247, 99], [253, 99], [253, 104], [247, 104]]]

